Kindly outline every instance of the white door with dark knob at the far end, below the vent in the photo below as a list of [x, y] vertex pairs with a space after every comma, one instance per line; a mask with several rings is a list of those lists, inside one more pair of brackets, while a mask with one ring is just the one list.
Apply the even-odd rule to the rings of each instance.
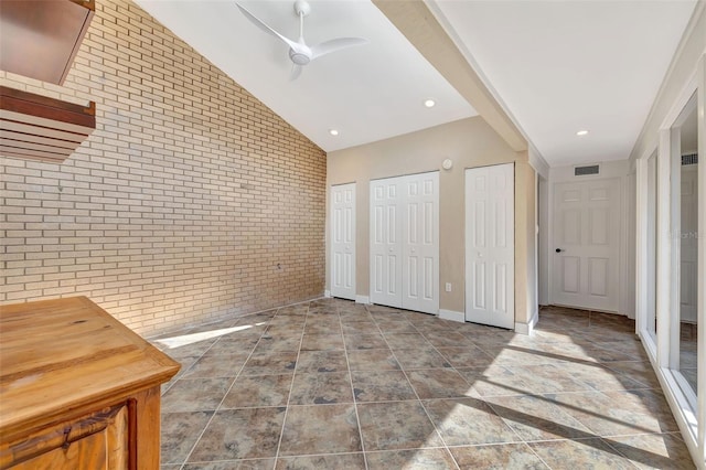
[[618, 311], [620, 180], [556, 183], [554, 217], [552, 302]]

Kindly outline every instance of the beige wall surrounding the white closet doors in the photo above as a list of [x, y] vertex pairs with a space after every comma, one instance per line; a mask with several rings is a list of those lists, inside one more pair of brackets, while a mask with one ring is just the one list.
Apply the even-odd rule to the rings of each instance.
[[[450, 170], [441, 169], [451, 159]], [[327, 185], [356, 182], [356, 295], [370, 295], [370, 181], [427, 171], [439, 174], [439, 308], [462, 314], [464, 299], [464, 169], [515, 163], [515, 321], [528, 331], [536, 312], [535, 293], [535, 171], [526, 152], [515, 152], [480, 117], [330, 152]], [[327, 212], [327, 216], [329, 216]], [[330, 221], [328, 222], [330, 223]], [[327, 246], [330, 234], [327, 232]], [[330, 249], [327, 250], [330, 286]], [[451, 282], [447, 292], [442, 286]], [[531, 298], [532, 297], [532, 298]], [[531, 302], [534, 302], [533, 305]], [[525, 327], [526, 325], [526, 327]]]

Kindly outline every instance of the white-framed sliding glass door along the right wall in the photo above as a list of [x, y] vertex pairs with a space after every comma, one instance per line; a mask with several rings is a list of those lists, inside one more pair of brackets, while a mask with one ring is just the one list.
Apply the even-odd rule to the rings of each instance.
[[[659, 146], [637, 161], [637, 324], [696, 462], [706, 467], [706, 58]], [[657, 137], [657, 136], [655, 136]]]

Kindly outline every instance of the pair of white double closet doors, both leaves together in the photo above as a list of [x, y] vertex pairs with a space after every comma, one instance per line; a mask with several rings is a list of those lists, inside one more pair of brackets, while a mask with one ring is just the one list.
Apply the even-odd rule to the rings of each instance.
[[371, 301], [439, 311], [439, 173], [371, 182]]

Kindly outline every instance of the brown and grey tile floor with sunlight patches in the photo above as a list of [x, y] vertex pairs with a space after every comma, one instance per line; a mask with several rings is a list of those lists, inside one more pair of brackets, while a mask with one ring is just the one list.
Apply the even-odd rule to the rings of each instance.
[[315, 300], [153, 340], [162, 469], [691, 469], [634, 323], [532, 337]]

